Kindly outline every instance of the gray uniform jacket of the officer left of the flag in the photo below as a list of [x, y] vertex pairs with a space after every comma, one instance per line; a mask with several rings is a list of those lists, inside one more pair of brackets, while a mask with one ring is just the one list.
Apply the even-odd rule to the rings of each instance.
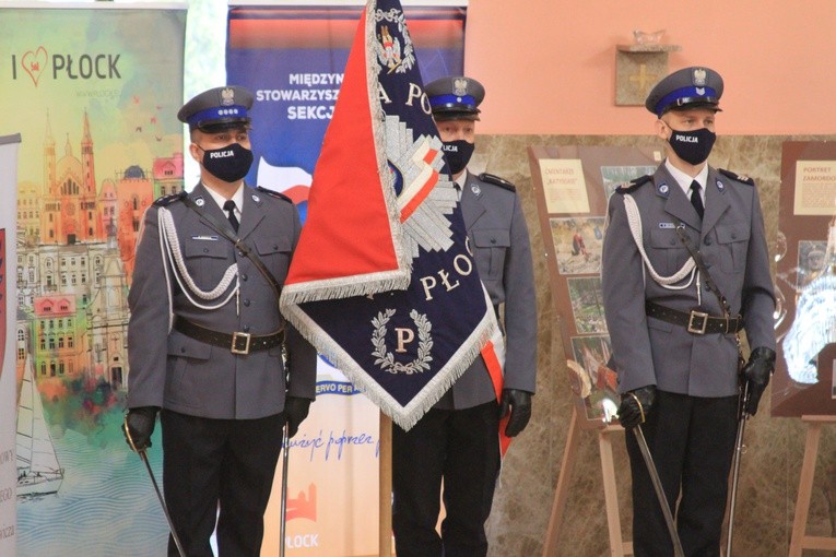
[[[225, 222], [226, 215], [204, 186], [198, 185], [189, 197], [198, 203], [202, 199], [203, 211]], [[163, 266], [168, 265], [167, 256], [161, 250], [158, 236], [160, 208], [149, 208], [128, 296], [131, 310], [128, 406], [161, 406], [181, 414], [222, 419], [260, 418], [284, 408], [286, 386], [281, 347], [236, 355], [228, 348], [169, 331], [172, 294], [176, 316], [214, 331], [268, 334], [284, 325], [291, 369], [289, 394], [313, 400], [316, 351], [285, 323], [266, 278], [229, 240], [185, 203], [174, 201], [166, 209], [174, 217], [180, 251], [199, 288], [214, 288], [226, 269], [237, 261], [239, 304], [233, 296], [217, 309], [201, 309], [187, 299], [174, 278], [168, 292]], [[299, 229], [298, 213], [290, 201], [245, 189], [238, 236], [258, 253], [280, 284], [287, 274]]]

